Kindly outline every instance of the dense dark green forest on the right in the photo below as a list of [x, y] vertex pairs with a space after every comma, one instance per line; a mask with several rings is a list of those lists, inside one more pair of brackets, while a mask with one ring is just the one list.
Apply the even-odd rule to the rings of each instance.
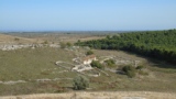
[[176, 30], [117, 33], [102, 40], [79, 41], [76, 45], [122, 50], [176, 64]]

